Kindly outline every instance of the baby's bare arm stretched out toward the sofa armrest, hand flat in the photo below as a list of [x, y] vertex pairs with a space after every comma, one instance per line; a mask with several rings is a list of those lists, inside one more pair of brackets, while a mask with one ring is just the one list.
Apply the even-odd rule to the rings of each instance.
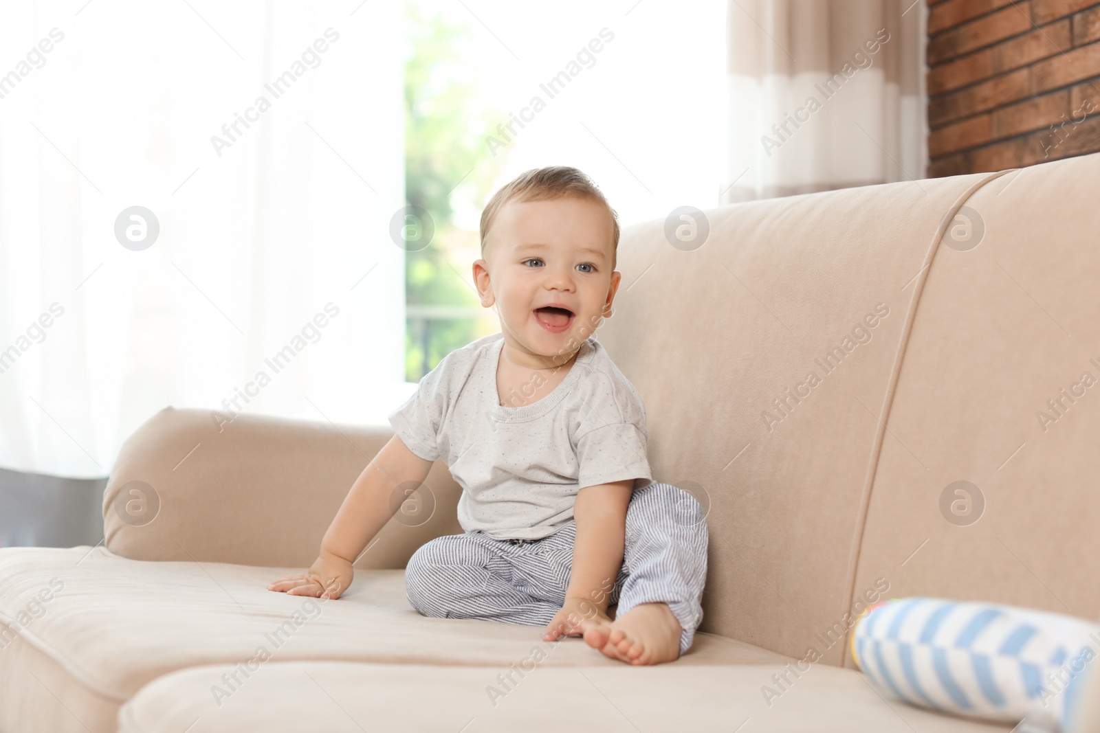
[[309, 570], [280, 578], [267, 589], [292, 596], [340, 598], [351, 585], [352, 563], [400, 506], [399, 501], [391, 501], [395, 488], [407, 481], [419, 486], [432, 463], [409, 451], [397, 435], [389, 438], [352, 484]]

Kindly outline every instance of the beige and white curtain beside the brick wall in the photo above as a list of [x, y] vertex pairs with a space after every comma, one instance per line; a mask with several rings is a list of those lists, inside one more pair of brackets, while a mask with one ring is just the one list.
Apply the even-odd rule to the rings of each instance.
[[925, 177], [925, 0], [729, 0], [723, 202]]

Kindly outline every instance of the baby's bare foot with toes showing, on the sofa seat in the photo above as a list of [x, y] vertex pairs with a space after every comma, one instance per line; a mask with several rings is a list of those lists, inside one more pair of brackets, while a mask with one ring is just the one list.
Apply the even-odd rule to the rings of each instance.
[[668, 603], [640, 603], [612, 622], [587, 624], [584, 642], [627, 664], [661, 664], [680, 657], [680, 621]]

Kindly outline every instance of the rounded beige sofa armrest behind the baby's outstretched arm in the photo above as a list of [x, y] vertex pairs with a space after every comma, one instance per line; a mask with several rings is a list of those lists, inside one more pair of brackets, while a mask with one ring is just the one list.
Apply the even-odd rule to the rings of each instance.
[[[209, 411], [165, 408], [127, 438], [112, 467], [107, 547], [143, 560], [309, 567], [355, 478], [393, 434], [388, 425], [249, 414], [219, 426]], [[461, 533], [460, 496], [436, 462], [355, 567], [403, 568], [424, 543]]]

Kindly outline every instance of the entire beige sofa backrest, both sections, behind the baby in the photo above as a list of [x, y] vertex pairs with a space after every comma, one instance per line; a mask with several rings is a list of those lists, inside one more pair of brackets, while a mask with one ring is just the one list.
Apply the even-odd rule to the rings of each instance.
[[1098, 184], [1090, 155], [710, 209], [701, 246], [624, 230], [596, 337], [654, 479], [708, 508], [701, 631], [840, 665], [882, 598], [1100, 613], [1100, 407], [1034, 414], [1100, 377]]

